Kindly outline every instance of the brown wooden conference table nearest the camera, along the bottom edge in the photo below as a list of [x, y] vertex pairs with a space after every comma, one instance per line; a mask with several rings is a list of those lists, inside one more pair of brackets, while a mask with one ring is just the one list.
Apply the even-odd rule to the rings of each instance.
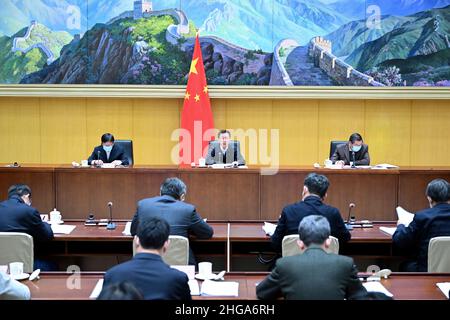
[[[237, 297], [194, 296], [194, 300], [238, 299], [255, 300], [256, 285], [268, 273], [227, 273], [225, 281], [239, 283]], [[63, 272], [42, 273], [39, 280], [24, 281], [30, 288], [33, 300], [88, 300], [97, 282], [104, 273], [91, 272], [68, 274]], [[78, 283], [77, 283], [78, 282]], [[200, 281], [201, 282], [201, 281]], [[450, 282], [450, 274], [393, 273], [381, 284], [390, 291], [396, 300], [445, 300], [445, 295], [436, 286], [439, 282]]]

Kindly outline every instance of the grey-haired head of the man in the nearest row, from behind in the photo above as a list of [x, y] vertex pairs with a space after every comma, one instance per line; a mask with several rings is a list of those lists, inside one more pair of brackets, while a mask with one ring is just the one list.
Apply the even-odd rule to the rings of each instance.
[[298, 235], [307, 247], [312, 244], [323, 245], [330, 237], [330, 223], [323, 216], [306, 216], [300, 221]]

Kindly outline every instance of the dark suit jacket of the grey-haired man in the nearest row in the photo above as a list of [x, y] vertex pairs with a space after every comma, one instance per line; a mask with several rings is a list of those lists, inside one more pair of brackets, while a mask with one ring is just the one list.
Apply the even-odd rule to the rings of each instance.
[[259, 299], [343, 300], [364, 295], [353, 259], [312, 246], [303, 254], [281, 258], [256, 287]]

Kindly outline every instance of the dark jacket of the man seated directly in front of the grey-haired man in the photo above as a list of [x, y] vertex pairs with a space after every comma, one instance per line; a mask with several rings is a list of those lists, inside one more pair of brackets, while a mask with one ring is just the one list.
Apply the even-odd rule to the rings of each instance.
[[331, 235], [338, 238], [339, 244], [350, 240], [351, 234], [347, 230], [337, 208], [328, 206], [319, 197], [309, 196], [304, 201], [288, 205], [281, 212], [278, 225], [271, 238], [275, 250], [281, 252], [281, 243], [284, 236], [298, 233], [298, 225], [306, 216], [321, 215], [328, 219]]

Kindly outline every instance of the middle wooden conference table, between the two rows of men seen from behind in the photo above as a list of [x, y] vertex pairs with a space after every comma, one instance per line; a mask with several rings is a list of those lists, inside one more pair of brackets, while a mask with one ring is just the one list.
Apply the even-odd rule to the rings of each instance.
[[[65, 225], [75, 226], [70, 234], [56, 234], [54, 241], [47, 243], [45, 251], [53, 257], [89, 257], [95, 255], [123, 256], [132, 254], [132, 237], [125, 235], [127, 221], [116, 221], [115, 230], [105, 226], [86, 226], [84, 221], [66, 220]], [[255, 257], [259, 253], [275, 255], [270, 245], [270, 237], [262, 229], [260, 221], [209, 222], [214, 229], [211, 239], [191, 237], [190, 245], [201, 260], [216, 258], [215, 267], [227, 271], [243, 271], [238, 259]], [[373, 222], [370, 228], [354, 228], [349, 243], [340, 245], [340, 253], [351, 256], [391, 259], [393, 257], [392, 238], [380, 227], [394, 227], [395, 222]], [[256, 252], [256, 253], [255, 253]], [[51, 258], [50, 258], [51, 259]], [[104, 270], [104, 267], [93, 270]], [[249, 266], [249, 268], [251, 268]], [[249, 269], [246, 271], [252, 271]]]

